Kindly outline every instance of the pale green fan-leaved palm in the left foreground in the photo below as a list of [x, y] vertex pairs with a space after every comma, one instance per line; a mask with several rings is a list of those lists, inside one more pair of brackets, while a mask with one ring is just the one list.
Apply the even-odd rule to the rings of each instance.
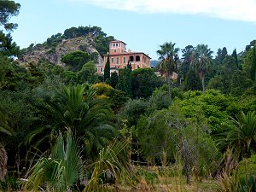
[[50, 152], [49, 157], [42, 157], [32, 167], [24, 189], [68, 191], [84, 176], [78, 143], [71, 131], [67, 131], [66, 141], [60, 133]]

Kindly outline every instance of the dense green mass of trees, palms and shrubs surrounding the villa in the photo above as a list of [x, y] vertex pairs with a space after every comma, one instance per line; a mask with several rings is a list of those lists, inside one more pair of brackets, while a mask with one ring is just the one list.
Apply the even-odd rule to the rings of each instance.
[[[215, 177], [222, 191], [255, 189], [255, 40], [238, 54], [218, 49], [215, 58], [207, 44], [186, 46], [180, 59], [165, 43], [156, 69], [164, 77], [154, 68], [132, 71], [130, 62], [103, 77], [85, 49], [63, 55], [65, 67], [43, 59], [20, 65], [15, 56], [39, 45], [20, 50], [6, 33], [19, 10], [0, 2], [1, 190], [133, 190], [177, 179], [178, 167], [187, 183]], [[84, 36], [101, 55], [113, 40], [101, 27], [79, 26], [42, 46]]]

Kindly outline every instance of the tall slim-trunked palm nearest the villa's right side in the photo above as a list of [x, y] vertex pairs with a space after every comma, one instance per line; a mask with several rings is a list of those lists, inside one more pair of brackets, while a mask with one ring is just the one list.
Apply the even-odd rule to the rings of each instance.
[[158, 55], [160, 55], [159, 60], [159, 70], [161, 75], [164, 75], [168, 81], [168, 88], [169, 88], [169, 96], [172, 101], [172, 74], [177, 71], [177, 61], [178, 61], [178, 48], [174, 47], [175, 44], [170, 43], [165, 43], [160, 45], [160, 49], [156, 51]]

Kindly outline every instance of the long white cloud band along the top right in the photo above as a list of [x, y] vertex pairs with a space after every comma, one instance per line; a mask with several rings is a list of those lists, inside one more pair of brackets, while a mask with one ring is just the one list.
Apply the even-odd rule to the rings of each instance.
[[256, 22], [256, 0], [69, 0], [138, 13], [209, 15], [224, 20]]

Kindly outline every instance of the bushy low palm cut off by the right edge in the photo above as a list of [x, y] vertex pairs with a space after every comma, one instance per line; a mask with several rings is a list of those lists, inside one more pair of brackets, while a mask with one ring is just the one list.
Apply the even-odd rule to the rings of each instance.
[[220, 148], [232, 148], [236, 156], [249, 157], [256, 152], [256, 113], [247, 112], [231, 119], [228, 131], [218, 139]]

